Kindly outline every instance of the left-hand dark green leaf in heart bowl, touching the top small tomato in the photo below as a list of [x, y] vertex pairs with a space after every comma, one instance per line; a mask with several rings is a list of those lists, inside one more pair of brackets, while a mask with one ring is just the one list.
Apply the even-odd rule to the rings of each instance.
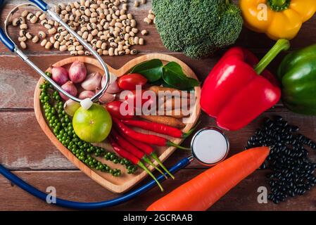
[[146, 77], [150, 83], [156, 82], [163, 76], [163, 62], [159, 59], [148, 60], [135, 65], [129, 73], [139, 73]]

